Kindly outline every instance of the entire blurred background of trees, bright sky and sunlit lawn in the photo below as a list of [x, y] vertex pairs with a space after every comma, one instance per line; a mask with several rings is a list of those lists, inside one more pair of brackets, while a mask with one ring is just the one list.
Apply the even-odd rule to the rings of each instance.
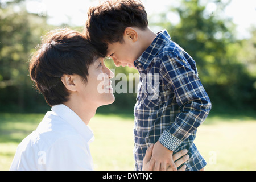
[[[212, 101], [212, 111], [195, 141], [207, 159], [207, 169], [255, 170], [256, 1], [142, 2], [150, 28], [166, 29], [196, 61]], [[0, 1], [0, 170], [9, 169], [16, 146], [51, 109], [28, 76], [28, 62], [41, 36], [57, 27], [82, 31], [89, 6], [95, 3]], [[115, 75], [138, 73], [128, 67], [115, 68], [111, 61], [106, 64], [115, 69]], [[91, 122], [96, 135], [91, 149], [95, 169], [133, 170], [136, 95], [115, 93], [113, 104], [97, 110]]]

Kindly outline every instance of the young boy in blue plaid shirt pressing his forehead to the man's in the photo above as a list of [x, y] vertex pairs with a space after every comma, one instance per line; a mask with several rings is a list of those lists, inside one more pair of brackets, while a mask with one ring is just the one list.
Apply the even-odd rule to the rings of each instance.
[[102, 56], [140, 73], [134, 107], [135, 169], [142, 169], [151, 143], [149, 169], [170, 165], [176, 170], [172, 154], [184, 148], [190, 156], [187, 170], [204, 169], [206, 162], [193, 141], [211, 104], [192, 57], [166, 30], [155, 34], [148, 28], [147, 13], [138, 1], [104, 1], [90, 7], [85, 30]]

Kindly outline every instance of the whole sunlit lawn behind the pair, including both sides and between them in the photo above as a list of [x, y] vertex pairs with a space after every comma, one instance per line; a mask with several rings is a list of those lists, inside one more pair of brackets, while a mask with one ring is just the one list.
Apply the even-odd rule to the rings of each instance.
[[[16, 147], [44, 114], [0, 113], [0, 170], [9, 170]], [[95, 170], [133, 170], [133, 115], [96, 114], [89, 126]], [[205, 170], [256, 170], [256, 117], [210, 115], [199, 127], [195, 144], [207, 160]]]

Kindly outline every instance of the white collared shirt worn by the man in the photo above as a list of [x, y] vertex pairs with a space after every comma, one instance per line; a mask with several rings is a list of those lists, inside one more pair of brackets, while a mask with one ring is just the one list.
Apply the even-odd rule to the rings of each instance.
[[92, 130], [69, 107], [52, 107], [19, 144], [10, 170], [93, 170]]

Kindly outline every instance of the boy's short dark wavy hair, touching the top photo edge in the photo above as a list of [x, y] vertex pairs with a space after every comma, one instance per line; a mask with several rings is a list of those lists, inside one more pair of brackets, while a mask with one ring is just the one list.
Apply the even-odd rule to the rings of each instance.
[[107, 43], [122, 43], [125, 28], [144, 30], [147, 26], [147, 13], [140, 1], [109, 0], [90, 7], [85, 34], [102, 56], [106, 56]]

